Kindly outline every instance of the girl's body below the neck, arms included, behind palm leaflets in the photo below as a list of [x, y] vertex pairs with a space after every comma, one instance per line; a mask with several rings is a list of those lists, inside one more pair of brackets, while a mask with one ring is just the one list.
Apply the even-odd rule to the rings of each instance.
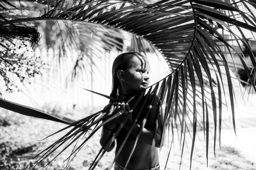
[[[152, 95], [149, 96], [149, 101], [151, 101], [151, 97]], [[145, 126], [141, 132], [139, 141], [136, 144], [136, 147], [132, 153], [132, 156], [128, 162], [127, 165], [127, 169], [132, 169], [132, 170], [140, 170], [140, 169], [148, 169], [149, 168], [149, 163], [151, 160], [151, 167], [155, 167], [156, 165], [158, 165], [158, 148], [160, 148], [160, 143], [161, 143], [161, 132], [162, 132], [162, 127], [163, 127], [163, 114], [161, 114], [161, 117], [159, 117], [159, 126], [157, 128], [157, 133], [156, 133], [156, 146], [154, 146], [153, 151], [152, 151], [152, 138], [153, 138], [153, 129], [155, 129], [155, 121], [156, 121], [156, 115], [158, 114], [157, 112], [157, 104], [158, 104], [158, 100], [156, 99], [156, 101], [153, 102], [152, 104], [152, 110], [149, 112], [148, 114], [148, 118], [147, 121], [145, 123]], [[116, 142], [114, 139], [114, 136], [112, 138], [113, 142], [111, 144], [111, 148], [113, 149], [116, 143], [116, 155], [123, 143], [123, 140], [127, 134], [127, 132], [129, 131], [130, 127], [131, 127], [131, 123], [134, 122], [135, 119], [138, 118], [137, 123], [135, 124], [133, 130], [132, 130], [132, 136], [135, 137], [138, 135], [139, 131], [140, 131], [140, 126], [142, 123], [142, 120], [144, 119], [145, 115], [147, 114], [147, 108], [149, 106], [148, 103], [151, 102], [147, 102], [147, 104], [145, 105], [145, 109], [143, 109], [143, 111], [141, 112], [141, 115], [138, 115], [141, 109], [141, 102], [143, 102], [144, 100], [141, 99], [141, 101], [138, 104], [138, 108], [135, 108], [132, 112], [132, 120], [130, 120], [130, 123], [127, 124], [127, 122], [124, 124], [124, 127], [121, 129], [121, 131], [119, 131], [120, 134], [117, 134], [116, 136]], [[111, 103], [110, 103], [111, 104]], [[133, 102], [129, 103], [131, 105], [131, 107], [133, 106]], [[112, 111], [110, 111], [112, 112]], [[162, 112], [162, 111], [161, 111]], [[121, 121], [123, 121], [124, 118], [121, 119]], [[120, 123], [122, 122], [117, 122], [116, 119], [112, 120], [111, 122], [109, 122], [107, 124], [107, 128], [109, 129], [114, 129], [116, 127], [116, 125], [120, 125]], [[107, 130], [106, 128], [103, 128], [102, 131], [102, 135], [101, 135], [101, 140], [100, 143], [101, 145], [103, 145], [106, 142], [106, 139], [108, 138], [108, 135], [110, 135], [109, 130]], [[122, 148], [122, 150], [120, 151], [120, 153], [118, 154], [117, 158], [116, 158], [116, 162], [122, 166], [125, 167], [128, 158], [131, 154], [131, 151], [133, 149], [133, 146], [135, 144], [135, 139], [134, 137], [131, 137], [132, 139], [129, 139], [125, 142], [124, 147]], [[130, 138], [130, 136], [129, 136]], [[151, 142], [150, 142], [151, 141]], [[107, 151], [111, 151], [112, 149], [108, 149]], [[151, 155], [153, 154], [153, 157], [151, 159]]]

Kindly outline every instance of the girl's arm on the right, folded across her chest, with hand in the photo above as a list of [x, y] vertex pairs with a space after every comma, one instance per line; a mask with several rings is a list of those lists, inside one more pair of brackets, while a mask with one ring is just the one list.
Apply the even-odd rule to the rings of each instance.
[[[149, 101], [151, 101], [151, 100], [149, 100]], [[153, 136], [154, 136], [154, 129], [156, 127], [156, 118], [158, 116], [157, 114], [160, 114], [159, 118], [158, 118], [158, 121], [157, 121], [158, 127], [156, 129], [156, 138], [155, 138], [155, 141], [156, 141], [155, 147], [158, 147], [158, 148], [163, 146], [163, 143], [162, 143], [162, 146], [160, 146], [160, 145], [161, 145], [161, 140], [162, 140], [162, 136], [163, 136], [163, 125], [164, 125], [164, 114], [163, 114], [162, 107], [160, 108], [160, 111], [158, 109], [159, 101], [160, 101], [159, 98], [156, 96], [155, 99], [154, 99], [154, 102], [152, 104], [151, 112], [149, 113], [148, 119], [147, 119], [147, 122], [149, 122], [149, 125], [150, 125], [151, 128], [145, 128], [144, 127], [142, 129], [142, 132], [141, 132], [140, 138], [139, 138], [139, 140], [141, 142], [147, 143], [149, 145], [152, 145], [152, 139], [153, 139]], [[148, 106], [150, 107], [150, 104], [148, 104]], [[117, 111], [118, 112], [120, 112], [123, 109], [126, 109], [127, 112], [123, 113], [123, 115], [118, 116], [116, 118], [116, 120], [119, 123], [122, 123], [122, 121], [127, 116], [128, 112], [130, 111], [129, 105], [128, 104], [124, 104], [124, 102], [122, 102], [121, 104], [117, 105]], [[129, 116], [129, 119], [127, 120], [127, 122], [124, 124], [124, 128], [127, 131], [129, 131], [131, 126], [132, 126], [132, 124], [133, 124], [133, 120], [132, 120], [132, 114], [131, 114]], [[134, 127], [132, 129], [132, 135], [137, 136], [139, 131], [140, 131], [140, 125], [135, 123], [135, 125], [134, 125]], [[163, 136], [163, 138], [164, 138], [164, 136]], [[163, 139], [163, 141], [164, 141], [164, 139]]]

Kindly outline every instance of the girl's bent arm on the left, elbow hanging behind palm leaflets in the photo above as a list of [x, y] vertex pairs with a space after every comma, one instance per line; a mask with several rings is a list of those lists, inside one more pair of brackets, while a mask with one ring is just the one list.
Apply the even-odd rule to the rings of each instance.
[[[116, 107], [116, 104], [115, 103], [110, 103], [112, 104], [112, 106], [110, 107], [109, 109], [109, 112], [107, 114], [107, 117], [110, 116], [113, 112], [113, 110], [115, 109]], [[104, 107], [104, 109], [106, 107], [108, 107], [109, 104], [107, 106]], [[116, 120], [112, 120], [108, 123], [106, 123], [105, 125], [103, 125], [102, 127], [102, 131], [101, 131], [101, 136], [100, 136], [100, 145], [103, 146], [107, 140], [108, 140], [108, 137], [109, 135], [112, 135], [111, 138], [109, 139], [109, 147], [108, 145], [106, 145], [105, 147], [108, 147], [108, 149], [106, 150], [107, 152], [110, 152], [112, 151], [112, 149], [115, 147], [116, 143], [115, 143], [115, 138], [114, 138], [114, 133], [112, 132], [112, 130], [114, 130], [114, 128], [116, 127]]]

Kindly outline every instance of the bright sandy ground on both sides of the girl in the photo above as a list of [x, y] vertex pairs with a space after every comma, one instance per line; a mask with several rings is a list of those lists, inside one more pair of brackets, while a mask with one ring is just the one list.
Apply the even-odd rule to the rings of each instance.
[[[246, 109], [250, 110], [252, 108]], [[80, 117], [83, 117], [82, 114], [84, 114], [84, 111], [77, 112], [79, 112], [78, 115], [80, 115]], [[253, 111], [251, 113], [253, 113]], [[245, 119], [247, 117], [248, 120], [252, 120], [252, 115], [253, 114], [248, 113], [243, 117], [238, 117], [238, 119]], [[79, 116], [73, 112], [65, 111], [65, 116], [72, 117], [73, 119], [79, 119]], [[36, 161], [36, 159], [32, 158], [39, 151], [42, 151], [66, 133], [64, 131], [44, 139], [46, 136], [66, 127], [66, 125], [49, 120], [41, 120], [23, 116], [6, 110], [0, 110], [0, 120], [2, 121], [2, 126], [0, 126], [0, 169], [33, 169], [32, 164]], [[8, 122], [8, 125], [4, 126], [3, 120]], [[191, 169], [256, 170], [256, 159], [253, 156], [256, 152], [256, 141], [254, 138], [254, 135], [256, 134], [255, 126], [251, 125], [246, 128], [242, 128], [241, 122], [240, 124], [237, 123], [237, 138], [232, 128], [223, 128], [221, 135], [221, 149], [219, 149], [218, 139], [216, 141], [216, 158], [214, 158], [213, 151], [213, 136], [210, 135], [208, 167], [206, 161], [204, 133], [203, 131], [198, 131], [192, 157]], [[223, 127], [225, 126], [223, 125]], [[89, 168], [100, 150], [99, 138], [100, 131], [99, 133], [93, 135], [91, 140], [81, 151], [79, 151], [74, 160], [71, 162], [69, 169], [86, 170]], [[164, 169], [166, 162], [166, 169], [168, 170], [189, 169], [191, 151], [191, 138], [189, 133], [187, 133], [186, 136], [187, 141], [184, 147], [181, 164], [180, 142], [178, 138], [175, 137], [170, 151], [172, 138], [170, 137], [169, 139], [170, 141], [168, 142], [166, 140], [164, 147], [160, 151], [159, 161], [161, 169]], [[52, 167], [48, 168], [61, 169], [64, 164], [63, 160], [67, 158], [71, 149], [72, 148], [69, 148], [68, 151], [61, 154], [54, 161]], [[170, 156], [167, 161], [169, 151]], [[108, 169], [113, 158], [114, 151], [105, 154], [95, 169]]]

